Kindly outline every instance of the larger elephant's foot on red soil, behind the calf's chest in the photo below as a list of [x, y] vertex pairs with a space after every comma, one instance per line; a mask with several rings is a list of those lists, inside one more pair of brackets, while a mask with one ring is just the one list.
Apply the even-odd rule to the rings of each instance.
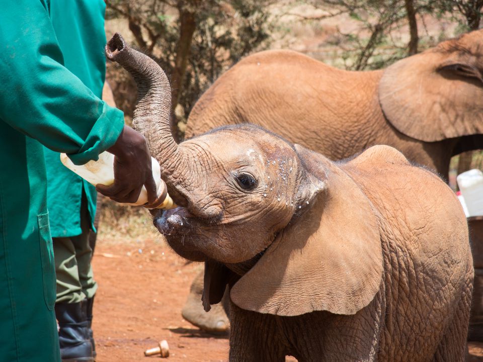
[[[205, 312], [201, 303], [203, 293], [203, 274], [204, 270], [195, 277], [191, 284], [190, 294], [183, 307], [181, 314], [191, 324], [209, 333], [223, 333], [229, 328], [229, 320], [223, 308], [224, 301], [213, 304], [209, 312]], [[225, 293], [223, 299], [228, 298]]]

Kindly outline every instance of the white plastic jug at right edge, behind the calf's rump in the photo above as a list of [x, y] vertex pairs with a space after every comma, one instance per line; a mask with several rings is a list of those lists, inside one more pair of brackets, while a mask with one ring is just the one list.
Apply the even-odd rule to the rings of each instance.
[[483, 216], [483, 172], [471, 169], [460, 173], [456, 182], [466, 204], [467, 216]]

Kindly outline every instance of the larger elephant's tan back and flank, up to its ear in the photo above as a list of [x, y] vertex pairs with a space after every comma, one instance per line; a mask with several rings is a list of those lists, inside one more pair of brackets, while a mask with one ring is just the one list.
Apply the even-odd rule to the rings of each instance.
[[367, 119], [384, 123], [377, 99], [381, 74], [340, 70], [294, 51], [256, 53], [202, 95], [190, 113], [186, 138], [248, 122], [331, 159], [344, 158], [370, 143], [375, 125], [361, 128]]

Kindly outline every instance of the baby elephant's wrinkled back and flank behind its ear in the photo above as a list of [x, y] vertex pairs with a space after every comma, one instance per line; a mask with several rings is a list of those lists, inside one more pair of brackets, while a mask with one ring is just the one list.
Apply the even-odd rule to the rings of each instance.
[[343, 169], [379, 211], [385, 230], [382, 360], [411, 354], [402, 360], [425, 360], [432, 348], [427, 344], [444, 340], [454, 327], [459, 334], [451, 338], [465, 338], [473, 270], [466, 219], [454, 193], [388, 147], [371, 148]]

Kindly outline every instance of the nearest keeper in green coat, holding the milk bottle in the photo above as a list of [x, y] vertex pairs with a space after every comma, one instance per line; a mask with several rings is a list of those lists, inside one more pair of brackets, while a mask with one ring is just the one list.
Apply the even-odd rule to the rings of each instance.
[[60, 360], [41, 144], [67, 153], [75, 164], [108, 150], [117, 162], [114, 185], [103, 188], [104, 195], [133, 202], [144, 185], [146, 206], [156, 206], [144, 137], [124, 126], [122, 112], [64, 66], [52, 19], [68, 17], [65, 22], [75, 27], [78, 17], [68, 13], [70, 7], [56, 15], [55, 2], [64, 3], [0, 0], [0, 360], [5, 361]]

